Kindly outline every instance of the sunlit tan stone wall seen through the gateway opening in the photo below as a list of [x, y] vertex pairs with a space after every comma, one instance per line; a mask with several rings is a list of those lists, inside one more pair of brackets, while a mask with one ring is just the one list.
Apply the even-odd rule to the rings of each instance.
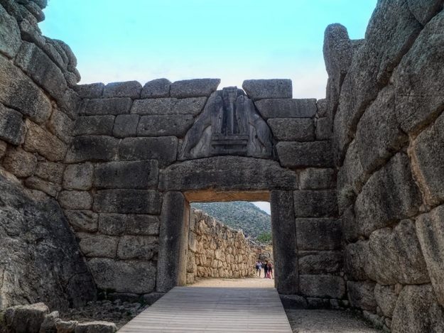
[[188, 231], [187, 283], [194, 278], [246, 278], [256, 273], [261, 248], [242, 230], [224, 226], [205, 212], [192, 209]]

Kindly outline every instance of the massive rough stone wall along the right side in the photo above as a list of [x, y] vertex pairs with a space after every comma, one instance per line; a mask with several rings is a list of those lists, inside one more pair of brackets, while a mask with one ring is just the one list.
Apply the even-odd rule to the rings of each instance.
[[347, 294], [392, 332], [444, 330], [443, 1], [325, 31]]

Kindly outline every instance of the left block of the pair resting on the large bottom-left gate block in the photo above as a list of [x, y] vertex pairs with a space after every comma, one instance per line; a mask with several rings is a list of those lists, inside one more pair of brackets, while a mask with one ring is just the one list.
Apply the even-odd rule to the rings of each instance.
[[117, 244], [119, 238], [106, 236], [101, 234], [85, 234], [77, 232], [79, 246], [82, 253], [89, 257], [95, 258], [115, 258], [117, 253]]

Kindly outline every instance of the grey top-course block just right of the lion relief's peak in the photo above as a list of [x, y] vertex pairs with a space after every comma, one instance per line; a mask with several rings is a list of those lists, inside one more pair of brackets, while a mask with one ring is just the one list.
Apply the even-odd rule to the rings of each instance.
[[291, 80], [288, 79], [245, 80], [242, 83], [242, 89], [254, 101], [266, 98], [291, 98], [293, 96]]

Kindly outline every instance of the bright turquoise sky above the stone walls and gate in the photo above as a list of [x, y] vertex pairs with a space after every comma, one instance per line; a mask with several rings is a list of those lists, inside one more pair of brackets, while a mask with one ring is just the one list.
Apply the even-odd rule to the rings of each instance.
[[40, 28], [70, 45], [82, 83], [290, 78], [293, 97], [323, 98], [325, 27], [363, 38], [376, 2], [50, 0]]

